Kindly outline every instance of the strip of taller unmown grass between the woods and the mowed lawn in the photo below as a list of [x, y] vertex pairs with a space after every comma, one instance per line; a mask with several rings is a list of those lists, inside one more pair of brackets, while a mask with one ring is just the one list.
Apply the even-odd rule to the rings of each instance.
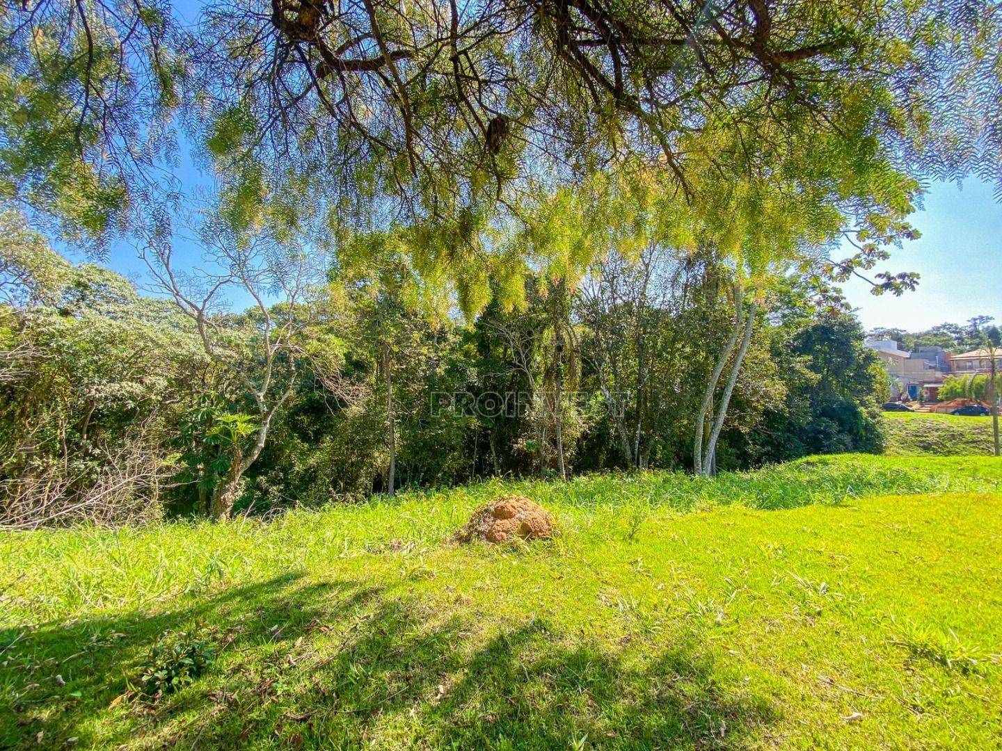
[[267, 569], [290, 571], [371, 553], [430, 550], [449, 544], [478, 506], [509, 493], [548, 509], [557, 530], [553, 545], [565, 548], [586, 539], [634, 537], [652, 513], [663, 517], [728, 506], [793, 509], [873, 496], [1000, 489], [1002, 462], [994, 459], [844, 455], [708, 480], [668, 472], [589, 475], [567, 482], [492, 480], [292, 510], [269, 521], [7, 533], [0, 534], [5, 562], [0, 587], [16, 580], [16, 589], [33, 594], [30, 601], [4, 609], [0, 625], [10, 617], [47, 620], [197, 595], [267, 573], [260, 569], [262, 562]]

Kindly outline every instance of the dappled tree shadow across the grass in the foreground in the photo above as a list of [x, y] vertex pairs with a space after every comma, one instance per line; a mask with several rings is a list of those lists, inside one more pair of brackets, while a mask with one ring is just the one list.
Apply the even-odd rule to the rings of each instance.
[[[651, 655], [539, 619], [479, 635], [474, 624], [289, 575], [161, 615], [42, 626], [0, 663], [0, 747], [37, 747], [41, 732], [53, 747], [523, 749], [587, 736], [587, 747], [702, 748], [740, 745], [772, 719], [695, 643]], [[117, 699], [166, 630], [220, 645], [216, 664], [155, 707]], [[0, 649], [19, 633], [0, 632]]]

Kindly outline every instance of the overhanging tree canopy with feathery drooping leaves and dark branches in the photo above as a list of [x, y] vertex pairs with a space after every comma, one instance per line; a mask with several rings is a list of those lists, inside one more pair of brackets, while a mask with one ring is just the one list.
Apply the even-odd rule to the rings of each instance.
[[186, 24], [168, 2], [6, 4], [0, 190], [71, 231], [165, 241], [180, 128], [237, 228], [421, 227], [412, 250], [461, 285], [513, 253], [540, 262], [498, 233], [572, 232], [581, 214], [554, 226], [550, 210], [562, 188], [637, 169], [688, 207], [682, 234], [750, 257], [750, 233], [789, 253], [862, 230], [872, 265], [916, 180], [1002, 176], [1000, 16], [961, 0], [226, 0]]

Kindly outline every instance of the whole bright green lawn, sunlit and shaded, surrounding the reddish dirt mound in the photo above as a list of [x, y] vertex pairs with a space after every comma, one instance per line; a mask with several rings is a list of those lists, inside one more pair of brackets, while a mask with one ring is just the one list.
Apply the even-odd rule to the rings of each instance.
[[[555, 539], [452, 541], [512, 489]], [[998, 747], [1000, 491], [816, 458], [8, 534], [0, 747]], [[217, 657], [142, 701], [164, 632]]]

